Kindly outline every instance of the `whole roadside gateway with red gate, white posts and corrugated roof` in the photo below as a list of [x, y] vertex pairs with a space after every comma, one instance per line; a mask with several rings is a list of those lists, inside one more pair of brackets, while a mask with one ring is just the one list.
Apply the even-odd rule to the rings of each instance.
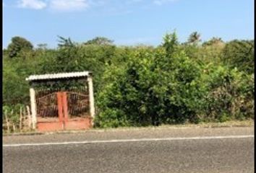
[[93, 126], [93, 79], [89, 71], [29, 76], [34, 130], [82, 130]]

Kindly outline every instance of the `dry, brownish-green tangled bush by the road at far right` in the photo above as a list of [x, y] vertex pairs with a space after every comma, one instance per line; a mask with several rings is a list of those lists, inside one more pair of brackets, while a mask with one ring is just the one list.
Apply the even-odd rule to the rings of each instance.
[[254, 118], [254, 75], [225, 66], [208, 66], [202, 74], [207, 94], [203, 98], [203, 120]]

